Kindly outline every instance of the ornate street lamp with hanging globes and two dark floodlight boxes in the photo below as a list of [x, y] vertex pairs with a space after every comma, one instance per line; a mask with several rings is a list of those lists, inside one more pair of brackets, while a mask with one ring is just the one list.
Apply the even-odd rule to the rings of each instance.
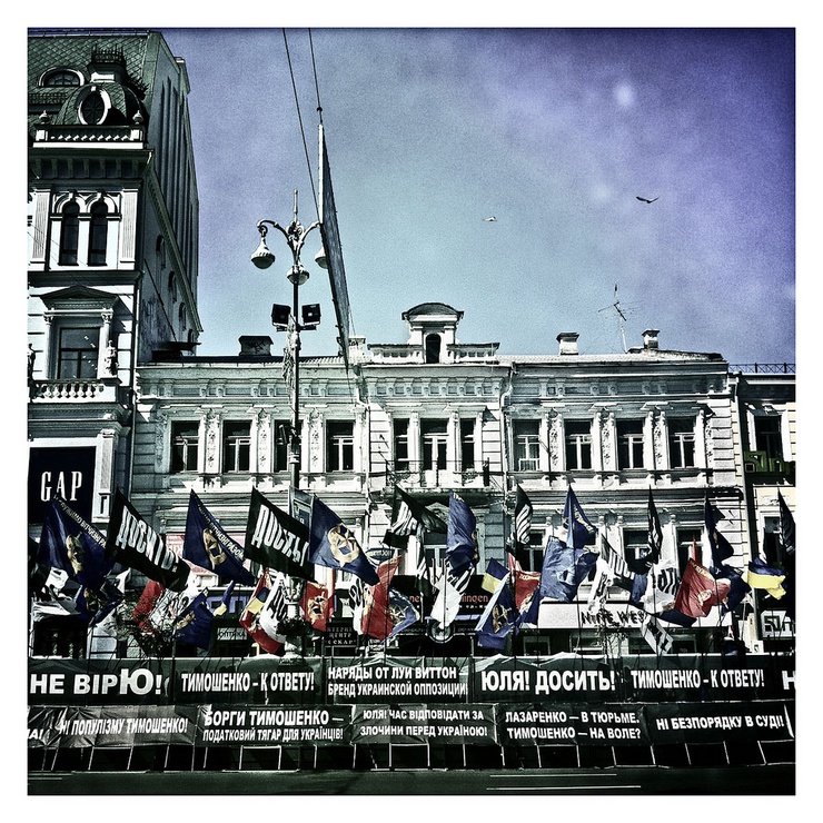
[[[320, 323], [320, 307], [317, 304], [303, 307], [303, 315], [298, 319], [299, 288], [308, 280], [309, 272], [300, 262], [300, 251], [306, 237], [318, 228], [319, 220], [305, 228], [297, 219], [297, 191], [295, 191], [295, 216], [288, 227], [284, 228], [276, 220], [260, 220], [257, 230], [260, 232], [260, 245], [251, 255], [251, 262], [260, 269], [267, 269], [275, 261], [275, 255], [266, 245], [268, 227], [276, 228], [291, 249], [291, 268], [286, 275], [292, 286], [291, 307], [275, 304], [271, 308], [271, 324], [278, 331], [287, 333], [287, 348], [284, 351], [284, 377], [291, 389], [291, 427], [288, 436], [289, 462], [289, 514], [294, 516], [295, 492], [300, 487], [300, 331], [316, 329]], [[326, 258], [323, 248], [315, 257], [321, 268], [326, 268]], [[288, 578], [286, 608], [287, 617], [295, 619], [299, 614], [298, 601], [301, 581]], [[287, 642], [287, 653], [295, 653], [291, 643]]]

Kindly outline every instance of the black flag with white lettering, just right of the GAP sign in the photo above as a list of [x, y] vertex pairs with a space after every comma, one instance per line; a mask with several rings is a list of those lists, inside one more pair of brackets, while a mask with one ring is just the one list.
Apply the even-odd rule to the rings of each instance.
[[162, 535], [149, 526], [119, 489], [111, 506], [106, 551], [115, 562], [142, 572], [166, 588], [186, 588], [188, 564], [166, 545]]

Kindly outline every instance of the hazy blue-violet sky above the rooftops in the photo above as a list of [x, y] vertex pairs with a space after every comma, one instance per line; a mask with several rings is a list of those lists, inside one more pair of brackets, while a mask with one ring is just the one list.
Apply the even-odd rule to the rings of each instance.
[[[295, 190], [317, 218], [321, 116], [367, 344], [404, 343], [401, 313], [442, 301], [462, 343], [502, 355], [556, 354], [562, 331], [614, 354], [654, 328], [661, 348], [795, 360], [791, 28], [156, 28], [191, 86], [198, 354], [285, 345], [286, 241], [269, 234], [267, 270], [249, 257]], [[304, 355], [336, 353], [318, 248], [313, 231]]]

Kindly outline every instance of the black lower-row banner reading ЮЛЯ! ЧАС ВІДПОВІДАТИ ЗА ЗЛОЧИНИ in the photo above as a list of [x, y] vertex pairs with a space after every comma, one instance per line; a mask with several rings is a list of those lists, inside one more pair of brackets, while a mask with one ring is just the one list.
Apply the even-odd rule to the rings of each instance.
[[495, 707], [418, 703], [354, 707], [351, 742], [497, 745]]

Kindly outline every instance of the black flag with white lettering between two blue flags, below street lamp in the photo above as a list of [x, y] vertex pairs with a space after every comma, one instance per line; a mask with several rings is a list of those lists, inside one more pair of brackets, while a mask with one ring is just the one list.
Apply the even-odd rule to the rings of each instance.
[[244, 555], [266, 568], [310, 581], [308, 546], [309, 529], [306, 524], [282, 512], [252, 488]]

